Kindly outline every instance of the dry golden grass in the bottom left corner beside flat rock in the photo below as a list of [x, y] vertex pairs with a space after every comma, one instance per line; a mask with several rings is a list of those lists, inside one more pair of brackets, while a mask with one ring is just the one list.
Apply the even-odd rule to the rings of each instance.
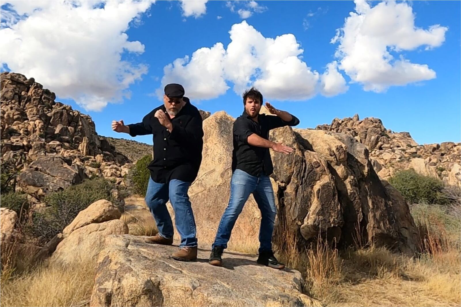
[[88, 306], [94, 263], [41, 265], [18, 277], [1, 280], [2, 306]]

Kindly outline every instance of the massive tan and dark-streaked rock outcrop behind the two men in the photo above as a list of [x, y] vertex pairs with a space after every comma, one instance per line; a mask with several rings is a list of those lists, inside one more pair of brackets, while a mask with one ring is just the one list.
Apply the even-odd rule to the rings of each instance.
[[[202, 165], [189, 189], [201, 243], [213, 242], [229, 201], [233, 120], [216, 112], [203, 122]], [[302, 246], [320, 232], [339, 245], [360, 240], [408, 254], [416, 250], [408, 204], [380, 181], [364, 144], [342, 133], [290, 127], [272, 130], [270, 139], [295, 149], [289, 155], [271, 150], [278, 235], [288, 232]], [[230, 246], [257, 245], [259, 226], [260, 212], [251, 196], [232, 231]]]

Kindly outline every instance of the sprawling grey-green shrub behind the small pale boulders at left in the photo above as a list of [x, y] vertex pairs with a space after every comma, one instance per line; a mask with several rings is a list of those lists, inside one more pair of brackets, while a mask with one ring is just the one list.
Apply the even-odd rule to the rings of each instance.
[[113, 183], [104, 178], [85, 180], [63, 191], [45, 197], [47, 207], [34, 213], [29, 227], [31, 235], [47, 242], [61, 232], [77, 214], [100, 199], [113, 201]]

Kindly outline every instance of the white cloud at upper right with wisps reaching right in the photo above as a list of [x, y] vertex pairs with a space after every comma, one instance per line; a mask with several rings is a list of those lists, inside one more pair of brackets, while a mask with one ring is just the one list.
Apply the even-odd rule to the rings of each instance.
[[355, 12], [331, 40], [339, 42], [339, 69], [365, 90], [375, 92], [435, 78], [436, 72], [428, 65], [411, 63], [401, 52], [439, 47], [448, 28], [436, 24], [421, 29], [414, 19], [406, 2], [386, 1], [372, 7], [366, 1], [355, 1]]

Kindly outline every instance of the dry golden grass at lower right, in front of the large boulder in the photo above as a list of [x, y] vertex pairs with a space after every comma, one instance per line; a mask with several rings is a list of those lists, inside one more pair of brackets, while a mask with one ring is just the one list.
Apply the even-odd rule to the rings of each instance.
[[460, 306], [459, 218], [428, 205], [416, 205], [412, 213], [422, 250], [418, 257], [363, 248], [360, 239], [359, 248], [339, 253], [321, 240], [299, 252], [296, 237], [284, 231], [274, 240], [278, 258], [302, 272], [307, 294], [328, 306]]

